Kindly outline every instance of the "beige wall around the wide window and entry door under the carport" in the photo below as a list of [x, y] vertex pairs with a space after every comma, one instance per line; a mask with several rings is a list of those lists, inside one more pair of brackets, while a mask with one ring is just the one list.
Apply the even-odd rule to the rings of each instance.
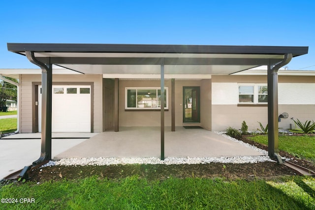
[[[183, 125], [183, 87], [184, 86], [201, 86], [206, 89], [211, 87], [210, 80], [202, 82], [200, 80], [175, 80], [175, 126]], [[159, 80], [119, 80], [119, 126], [160, 126], [159, 111], [125, 111], [125, 88], [126, 87], [160, 87]], [[171, 80], [165, 80], [165, 87], [168, 88], [168, 111], [164, 112], [165, 126], [171, 126]], [[203, 96], [208, 99], [201, 101], [201, 107], [207, 106], [207, 115], [211, 114], [211, 97], [209, 91]], [[210, 97], [210, 99], [209, 99]], [[209, 106], [208, 106], [209, 105]], [[206, 108], [203, 109], [206, 112]], [[206, 115], [204, 116], [206, 117]], [[207, 128], [211, 127], [209, 121], [211, 118], [203, 118], [203, 123]], [[200, 123], [199, 123], [200, 124]]]

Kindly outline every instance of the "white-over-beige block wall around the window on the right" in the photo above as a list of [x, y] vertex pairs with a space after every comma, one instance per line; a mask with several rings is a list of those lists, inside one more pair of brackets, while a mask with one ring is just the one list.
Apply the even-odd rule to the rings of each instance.
[[[315, 120], [315, 81], [312, 77], [279, 76], [279, 115], [288, 113], [279, 127], [294, 125], [293, 120]], [[212, 78], [212, 130], [228, 126], [240, 129], [245, 120], [249, 130], [259, 128], [257, 121], [268, 123], [266, 106], [241, 107], [238, 104], [238, 83], [267, 83], [266, 76], [213, 76]]]

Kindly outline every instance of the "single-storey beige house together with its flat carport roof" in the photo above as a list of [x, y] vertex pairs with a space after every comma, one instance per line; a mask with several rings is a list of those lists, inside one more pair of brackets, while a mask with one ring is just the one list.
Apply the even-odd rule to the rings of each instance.
[[[293, 57], [307, 54], [308, 47], [7, 46], [41, 68], [2, 69], [0, 74], [15, 75], [20, 81], [20, 132], [42, 132], [43, 142], [50, 141], [51, 132], [160, 126], [162, 158], [165, 126], [175, 131], [175, 126], [199, 125], [216, 131], [239, 128], [243, 120], [249, 129], [256, 129], [257, 121], [269, 122], [271, 128], [277, 128], [269, 134], [274, 145], [283, 112], [300, 120], [315, 118], [315, 93], [310, 91], [315, 90], [313, 71], [280, 71], [277, 94], [279, 68]], [[54, 69], [53, 64], [62, 68]], [[262, 65], [267, 69], [248, 70]], [[279, 125], [289, 128], [291, 123], [286, 119]], [[44, 155], [49, 153], [47, 148]]]

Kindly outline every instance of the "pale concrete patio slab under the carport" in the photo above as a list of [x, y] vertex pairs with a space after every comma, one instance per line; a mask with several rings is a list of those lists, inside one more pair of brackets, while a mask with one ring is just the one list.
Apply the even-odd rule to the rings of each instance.
[[[165, 127], [165, 157], [232, 157], [259, 156], [262, 153], [231, 141], [205, 129]], [[160, 157], [159, 127], [120, 127], [108, 131], [66, 150], [56, 156], [83, 157]]]

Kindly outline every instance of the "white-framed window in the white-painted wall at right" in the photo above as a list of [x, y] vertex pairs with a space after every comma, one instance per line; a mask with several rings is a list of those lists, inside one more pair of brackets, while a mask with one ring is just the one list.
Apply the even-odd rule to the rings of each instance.
[[267, 104], [267, 84], [238, 84], [239, 104]]

